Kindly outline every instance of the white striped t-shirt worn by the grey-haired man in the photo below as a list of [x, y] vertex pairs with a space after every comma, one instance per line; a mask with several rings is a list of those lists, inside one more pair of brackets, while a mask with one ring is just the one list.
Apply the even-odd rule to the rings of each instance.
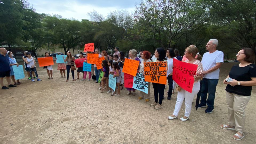
[[[206, 71], [211, 69], [216, 65], [216, 63], [223, 63], [223, 57], [224, 57], [223, 52], [218, 50], [216, 50], [213, 53], [207, 52], [203, 54], [203, 58], [202, 58], [203, 70]], [[208, 74], [204, 74], [203, 78], [219, 79], [219, 69], [212, 71]]]

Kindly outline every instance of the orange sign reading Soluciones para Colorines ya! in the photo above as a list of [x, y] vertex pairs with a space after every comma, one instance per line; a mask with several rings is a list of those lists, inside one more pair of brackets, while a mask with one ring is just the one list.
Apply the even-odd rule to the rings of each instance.
[[145, 68], [145, 81], [161, 83], [166, 85], [166, 66], [167, 62], [146, 62], [144, 63]]

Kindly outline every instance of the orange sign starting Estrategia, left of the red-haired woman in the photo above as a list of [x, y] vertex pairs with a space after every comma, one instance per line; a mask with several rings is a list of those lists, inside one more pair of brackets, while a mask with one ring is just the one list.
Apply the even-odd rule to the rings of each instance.
[[139, 61], [126, 58], [125, 63], [123, 64], [123, 73], [135, 76], [137, 74], [138, 67]]

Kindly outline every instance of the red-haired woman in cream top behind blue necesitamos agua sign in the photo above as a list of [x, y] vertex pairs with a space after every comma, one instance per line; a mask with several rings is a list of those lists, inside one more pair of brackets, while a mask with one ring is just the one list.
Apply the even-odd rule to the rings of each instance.
[[[139, 65], [139, 73], [142, 73], [144, 75], [144, 63], [145, 62], [152, 62], [149, 58], [150, 58], [151, 53], [149, 51], [143, 51], [141, 54], [141, 64]], [[148, 92], [147, 94], [144, 93], [143, 91], [141, 91], [141, 96], [138, 97], [138, 100], [141, 100], [143, 98], [145, 98], [145, 102], [149, 102], [150, 99], [150, 82], [149, 82], [149, 86], [148, 86]]]

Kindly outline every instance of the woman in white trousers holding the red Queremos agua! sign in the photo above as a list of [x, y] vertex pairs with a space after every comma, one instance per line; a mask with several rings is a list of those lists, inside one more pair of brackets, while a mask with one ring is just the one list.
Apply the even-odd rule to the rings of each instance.
[[193, 85], [192, 93], [190, 93], [186, 90], [183, 90], [183, 89], [181, 89], [181, 91], [178, 91], [177, 100], [176, 100], [173, 114], [167, 118], [169, 120], [177, 118], [179, 111], [181, 110], [181, 105], [183, 103], [184, 98], [185, 98], [185, 114], [179, 120], [186, 121], [189, 119], [194, 96], [200, 90], [200, 84], [199, 84], [198, 80], [200, 80], [202, 78], [202, 74], [203, 74], [202, 63], [195, 58], [197, 53], [198, 53], [198, 49], [196, 47], [190, 47], [190, 46], [187, 47], [184, 52], [184, 56], [187, 58], [187, 60], [185, 62], [198, 65], [198, 67], [197, 67], [196, 75], [194, 75], [194, 85]]

